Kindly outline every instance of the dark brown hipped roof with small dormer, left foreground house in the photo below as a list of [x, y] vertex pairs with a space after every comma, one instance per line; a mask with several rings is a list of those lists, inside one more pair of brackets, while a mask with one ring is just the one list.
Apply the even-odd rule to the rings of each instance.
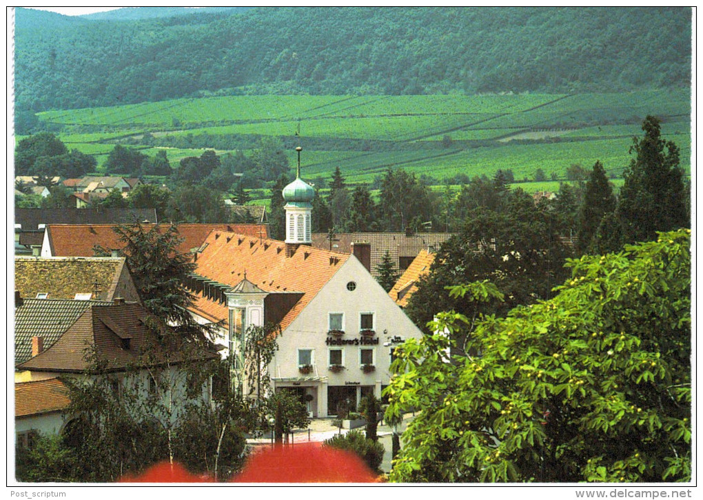
[[[91, 355], [103, 361], [107, 371], [163, 363], [167, 359], [165, 352], [153, 352], [153, 357], [148, 359], [143, 357], [143, 349], [150, 345], [154, 335], [147, 326], [148, 319], [160, 324], [136, 303], [94, 305], [86, 309], [49, 349], [20, 364], [18, 369], [79, 373], [92, 367]], [[199, 350], [197, 356], [198, 359], [219, 357], [216, 352], [205, 349]], [[183, 352], [171, 352], [172, 363], [182, 360]]]

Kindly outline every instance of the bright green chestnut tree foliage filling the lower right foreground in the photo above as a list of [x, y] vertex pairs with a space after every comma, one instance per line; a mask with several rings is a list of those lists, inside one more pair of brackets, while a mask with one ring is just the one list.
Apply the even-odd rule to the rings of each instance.
[[479, 322], [475, 355], [449, 359], [456, 312], [396, 350], [386, 417], [420, 413], [392, 481], [690, 480], [690, 231], [567, 265], [550, 300]]

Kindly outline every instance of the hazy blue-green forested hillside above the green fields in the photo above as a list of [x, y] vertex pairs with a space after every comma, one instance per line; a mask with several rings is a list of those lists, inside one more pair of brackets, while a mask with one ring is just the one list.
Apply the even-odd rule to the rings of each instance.
[[[49, 15], [41, 13], [41, 15]], [[572, 93], [690, 85], [690, 8], [255, 8], [25, 23], [27, 111], [219, 94]]]

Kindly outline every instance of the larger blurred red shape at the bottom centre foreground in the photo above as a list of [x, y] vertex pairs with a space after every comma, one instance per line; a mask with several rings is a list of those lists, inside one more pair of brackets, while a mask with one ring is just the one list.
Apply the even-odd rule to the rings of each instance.
[[255, 452], [232, 482], [378, 482], [351, 451], [318, 443]]

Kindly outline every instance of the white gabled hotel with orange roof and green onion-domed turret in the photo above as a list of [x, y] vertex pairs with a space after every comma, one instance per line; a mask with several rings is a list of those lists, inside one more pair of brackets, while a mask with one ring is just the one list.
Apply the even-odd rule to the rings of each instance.
[[271, 390], [328, 417], [341, 402], [380, 399], [394, 347], [422, 334], [355, 255], [311, 246], [314, 189], [299, 173], [283, 189], [285, 242], [212, 231], [186, 286], [195, 319], [221, 321], [219, 342], [235, 352], [248, 326], [279, 325]]

